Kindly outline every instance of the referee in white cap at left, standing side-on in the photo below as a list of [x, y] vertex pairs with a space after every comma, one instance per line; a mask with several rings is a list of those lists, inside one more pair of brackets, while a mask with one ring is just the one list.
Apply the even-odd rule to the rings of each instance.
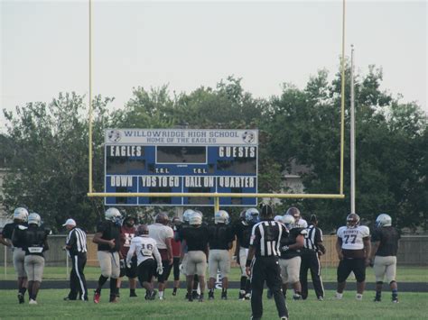
[[81, 300], [88, 301], [88, 288], [83, 274], [87, 259], [86, 252], [88, 251], [86, 233], [76, 227], [76, 222], [73, 219], [68, 219], [62, 226], [65, 226], [69, 231], [65, 249], [71, 259], [70, 293], [64, 297], [64, 300], [77, 300], [79, 293]]

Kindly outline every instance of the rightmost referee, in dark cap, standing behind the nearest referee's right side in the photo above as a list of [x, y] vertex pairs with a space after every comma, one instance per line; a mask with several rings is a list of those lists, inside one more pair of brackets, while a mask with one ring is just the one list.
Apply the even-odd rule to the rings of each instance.
[[312, 284], [318, 300], [324, 299], [324, 287], [321, 279], [321, 262], [319, 255], [325, 253], [322, 245], [322, 232], [317, 226], [318, 219], [316, 215], [311, 215], [307, 233], [304, 238], [304, 247], [302, 249], [302, 262], [300, 265], [300, 282], [302, 285], [302, 299], [308, 297], [308, 269], [311, 270]]

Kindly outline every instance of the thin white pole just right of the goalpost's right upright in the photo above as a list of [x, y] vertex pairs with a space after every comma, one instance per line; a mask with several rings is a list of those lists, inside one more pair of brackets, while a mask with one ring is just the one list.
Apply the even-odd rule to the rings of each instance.
[[350, 53], [350, 213], [355, 214], [355, 96], [354, 96], [354, 46]]

